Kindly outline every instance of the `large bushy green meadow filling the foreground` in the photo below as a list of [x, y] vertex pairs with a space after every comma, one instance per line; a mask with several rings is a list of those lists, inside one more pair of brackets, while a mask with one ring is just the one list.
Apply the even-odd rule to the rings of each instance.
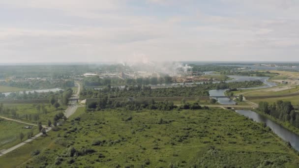
[[[78, 110], [49, 132], [0, 157], [0, 167], [298, 167], [298, 155], [236, 112]], [[162, 119], [161, 119], [162, 118]], [[72, 148], [74, 147], [74, 148]], [[30, 149], [30, 150], [29, 150]], [[39, 149], [38, 156], [31, 156]], [[21, 165], [21, 166], [20, 166]]]

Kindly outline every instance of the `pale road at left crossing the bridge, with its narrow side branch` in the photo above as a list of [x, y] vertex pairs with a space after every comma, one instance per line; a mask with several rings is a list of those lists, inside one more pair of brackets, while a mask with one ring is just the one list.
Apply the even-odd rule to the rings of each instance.
[[[76, 83], [76, 84], [77, 84], [77, 86], [78, 86], [78, 90], [77, 90], [77, 92], [76, 92], [72, 97], [79, 98], [79, 93], [80, 93], [81, 85], [80, 85], [79, 83]], [[70, 102], [70, 106], [66, 109], [64, 115], [68, 118], [69, 116], [71, 116], [73, 113], [76, 112], [76, 110], [78, 109], [78, 107], [81, 107], [81, 106], [78, 106], [78, 105], [77, 105], [77, 101], [71, 101], [71, 102]], [[19, 120], [11, 119], [11, 118], [6, 118], [6, 117], [1, 117], [1, 118], [7, 119], [7, 120], [11, 120], [11, 121], [20, 122], [20, 123], [23, 123], [23, 124], [28, 124], [28, 125], [37, 126], [37, 125], [35, 125], [35, 124], [31, 124], [31, 123], [27, 123], [27, 122], [23, 122], [23, 121], [19, 121]], [[46, 132], [49, 132], [49, 131], [52, 130], [52, 127], [47, 127], [47, 126], [45, 126], [45, 125], [43, 125], [43, 127], [46, 128]], [[15, 150], [15, 149], [17, 149], [17, 148], [19, 148], [19, 147], [21, 147], [21, 146], [27, 144], [28, 142], [37, 139], [37, 138], [40, 137], [40, 136], [42, 136], [42, 133], [39, 133], [39, 134], [35, 135], [34, 137], [31, 137], [30, 139], [25, 140], [24, 142], [21, 142], [21, 143], [15, 145], [15, 146], [13, 146], [13, 147], [11, 147], [11, 148], [9, 148], [9, 149], [6, 149], [6, 150], [4, 150], [4, 151], [1, 151], [1, 152], [0, 152], [0, 156], [4, 155], [4, 154], [6, 154], [6, 153], [9, 153], [9, 152], [11, 152], [11, 151], [13, 151], [13, 150]]]

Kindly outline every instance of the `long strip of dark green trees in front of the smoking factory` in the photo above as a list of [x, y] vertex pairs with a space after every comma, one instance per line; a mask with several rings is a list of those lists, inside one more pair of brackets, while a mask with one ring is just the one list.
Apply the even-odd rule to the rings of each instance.
[[189, 97], [189, 96], [209, 96], [211, 89], [226, 89], [238, 87], [254, 87], [262, 85], [261, 81], [245, 81], [232, 83], [203, 83], [195, 86], [179, 86], [168, 88], [151, 88], [146, 85], [119, 87], [106, 86], [100, 90], [84, 88], [80, 92], [80, 98], [117, 98], [117, 97]]

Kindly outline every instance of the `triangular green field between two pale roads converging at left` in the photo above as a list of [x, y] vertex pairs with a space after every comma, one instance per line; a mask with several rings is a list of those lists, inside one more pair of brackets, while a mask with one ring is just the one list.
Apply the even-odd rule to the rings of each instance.
[[24, 140], [27, 140], [27, 133], [33, 131], [33, 134], [37, 134], [38, 130], [36, 126], [31, 129], [24, 129], [26, 124], [18, 123], [15, 121], [4, 120], [0, 118], [0, 150], [7, 149], [21, 142], [20, 133], [25, 135]]

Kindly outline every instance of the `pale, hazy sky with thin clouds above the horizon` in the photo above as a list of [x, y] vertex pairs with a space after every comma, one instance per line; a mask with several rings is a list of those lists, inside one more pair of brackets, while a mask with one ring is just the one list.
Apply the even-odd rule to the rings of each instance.
[[299, 0], [0, 0], [0, 63], [299, 61]]

